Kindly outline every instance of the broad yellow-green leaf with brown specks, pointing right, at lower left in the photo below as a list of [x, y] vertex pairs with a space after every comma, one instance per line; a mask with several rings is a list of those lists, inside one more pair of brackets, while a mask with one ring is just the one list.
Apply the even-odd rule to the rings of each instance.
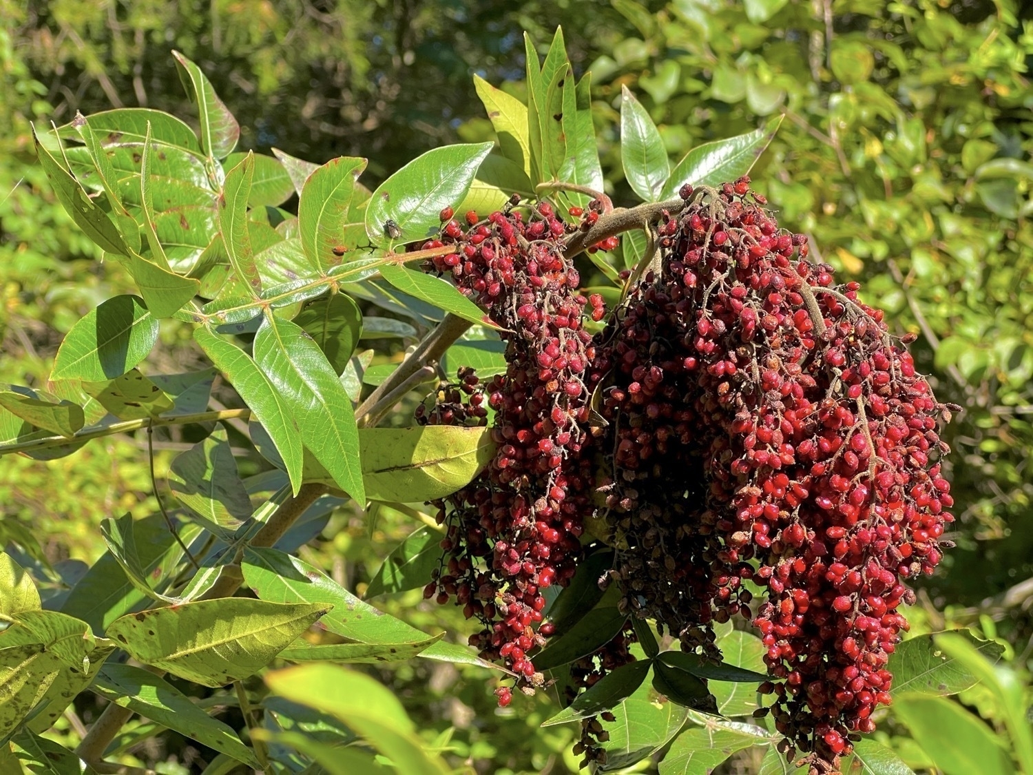
[[219, 687], [264, 668], [325, 612], [320, 605], [223, 597], [123, 616], [106, 634], [145, 664]]

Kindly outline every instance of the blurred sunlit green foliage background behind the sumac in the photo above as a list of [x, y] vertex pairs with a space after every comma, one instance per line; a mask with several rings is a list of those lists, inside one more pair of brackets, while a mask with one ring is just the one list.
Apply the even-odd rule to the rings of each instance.
[[[617, 143], [622, 85], [649, 109], [672, 161], [785, 114], [754, 168], [756, 187], [843, 279], [864, 283], [866, 301], [886, 309], [898, 333], [919, 335], [913, 349], [938, 397], [964, 407], [947, 434], [958, 547], [921, 584], [916, 629], [981, 629], [1007, 645], [1010, 670], [1026, 680], [1033, 8], [1005, 0], [0, 0], [0, 381], [37, 386], [71, 324], [127, 286], [49, 192], [29, 123], [121, 105], [192, 116], [173, 49], [205, 69], [237, 116], [240, 150], [276, 146], [319, 163], [366, 156], [371, 183], [429, 148], [492, 138], [472, 75], [520, 96], [523, 32], [544, 47], [557, 25], [577, 74], [593, 73], [618, 205], [631, 204]], [[163, 322], [162, 344], [150, 367], [197, 362], [175, 321]], [[183, 439], [159, 443], [159, 470], [183, 447]], [[239, 462], [245, 475], [257, 470], [256, 460]], [[0, 464], [0, 545], [31, 533], [51, 562], [92, 561], [103, 549], [101, 518], [154, 505], [143, 437], [107, 438], [49, 464]], [[362, 591], [414, 524], [383, 509], [371, 528], [343, 513], [307, 558]], [[458, 612], [419, 600], [417, 591], [379, 601], [415, 624], [464, 631]], [[574, 766], [573, 730], [537, 729], [549, 713], [542, 696], [498, 710], [483, 673], [447, 664], [406, 664], [381, 678], [428, 740], [456, 727], [452, 754], [478, 771]], [[1004, 722], [985, 692], [962, 702], [991, 729]], [[886, 729], [913, 767], [935, 764], [901, 720]], [[185, 741], [161, 745], [167, 772], [191, 771], [177, 747]], [[757, 766], [744, 753], [721, 771]]]

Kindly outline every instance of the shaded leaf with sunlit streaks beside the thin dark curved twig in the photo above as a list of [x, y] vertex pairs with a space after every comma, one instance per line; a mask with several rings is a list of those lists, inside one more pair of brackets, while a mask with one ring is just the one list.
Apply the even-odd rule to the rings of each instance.
[[168, 488], [183, 505], [218, 527], [233, 530], [251, 517], [251, 498], [223, 428], [176, 457]]

